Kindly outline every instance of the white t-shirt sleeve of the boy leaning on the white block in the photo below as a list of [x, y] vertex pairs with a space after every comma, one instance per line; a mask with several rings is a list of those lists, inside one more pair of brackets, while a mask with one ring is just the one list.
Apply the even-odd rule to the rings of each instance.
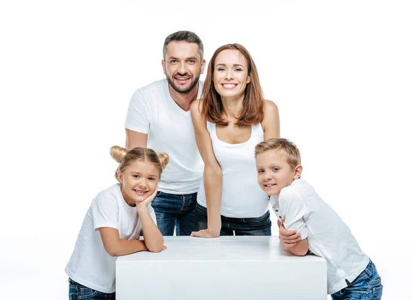
[[285, 228], [299, 232], [302, 240], [307, 238], [308, 228], [304, 218], [308, 215], [308, 210], [301, 197], [291, 190], [282, 190], [279, 195], [279, 208], [285, 217]]

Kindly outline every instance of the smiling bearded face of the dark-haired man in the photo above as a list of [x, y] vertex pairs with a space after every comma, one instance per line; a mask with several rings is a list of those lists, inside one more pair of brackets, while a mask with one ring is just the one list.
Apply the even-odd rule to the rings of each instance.
[[166, 79], [176, 92], [190, 92], [198, 83], [205, 60], [201, 59], [199, 47], [194, 42], [170, 42], [162, 60]]

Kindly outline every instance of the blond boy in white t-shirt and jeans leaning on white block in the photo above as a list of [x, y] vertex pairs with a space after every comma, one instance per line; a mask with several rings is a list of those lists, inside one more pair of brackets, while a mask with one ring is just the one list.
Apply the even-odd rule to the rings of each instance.
[[284, 138], [271, 138], [256, 145], [255, 158], [260, 188], [270, 196], [277, 218], [284, 218], [286, 229], [301, 234], [301, 240], [287, 251], [306, 255], [310, 250], [325, 258], [332, 299], [355, 299], [352, 297], [360, 294], [380, 299], [382, 284], [374, 263], [338, 214], [300, 178], [302, 166], [296, 145]]

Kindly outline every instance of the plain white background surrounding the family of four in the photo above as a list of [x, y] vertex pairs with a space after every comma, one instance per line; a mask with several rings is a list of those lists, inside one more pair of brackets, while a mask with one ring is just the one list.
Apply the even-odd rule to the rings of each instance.
[[383, 299], [410, 296], [409, 1], [9, 2], [1, 299], [67, 299], [63, 270], [91, 199], [115, 183], [108, 149], [124, 145], [130, 97], [164, 77], [163, 40], [182, 29], [202, 38], [207, 62], [228, 42], [249, 49], [282, 137], [378, 266]]

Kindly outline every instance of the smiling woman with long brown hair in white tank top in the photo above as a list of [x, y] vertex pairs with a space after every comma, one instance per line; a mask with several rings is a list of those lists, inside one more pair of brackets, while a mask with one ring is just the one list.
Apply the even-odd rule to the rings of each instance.
[[271, 235], [268, 197], [254, 176], [254, 147], [279, 137], [279, 114], [265, 100], [251, 55], [239, 44], [219, 47], [212, 56], [203, 99], [190, 112], [205, 162], [192, 236]]

